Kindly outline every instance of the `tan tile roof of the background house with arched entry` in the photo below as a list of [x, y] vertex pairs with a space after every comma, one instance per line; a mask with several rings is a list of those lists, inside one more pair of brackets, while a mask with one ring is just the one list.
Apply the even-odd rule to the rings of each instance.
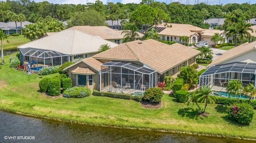
[[191, 35], [194, 35], [194, 34], [198, 35], [197, 31], [204, 31], [204, 29], [202, 29], [200, 27], [190, 25], [190, 24], [170, 24], [170, 23], [167, 23], [167, 25], [172, 25], [172, 27], [166, 27], [164, 25], [164, 23], [157, 26], [157, 27], [166, 27], [164, 30], [160, 31], [159, 34], [190, 37]]

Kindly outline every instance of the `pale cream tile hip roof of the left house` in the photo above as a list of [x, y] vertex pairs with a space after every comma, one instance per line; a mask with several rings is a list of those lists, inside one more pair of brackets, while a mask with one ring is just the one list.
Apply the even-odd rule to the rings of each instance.
[[30, 47], [47, 49], [64, 54], [77, 55], [98, 52], [98, 49], [103, 44], [108, 44], [111, 48], [118, 45], [75, 29], [66, 29], [56, 34], [20, 45], [18, 48]]

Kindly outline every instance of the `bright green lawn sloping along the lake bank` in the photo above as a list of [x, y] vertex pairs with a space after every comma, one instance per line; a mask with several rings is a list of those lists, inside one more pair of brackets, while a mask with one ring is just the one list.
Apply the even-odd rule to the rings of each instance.
[[178, 103], [168, 94], [164, 94], [160, 109], [145, 109], [133, 100], [100, 96], [81, 99], [44, 96], [38, 92], [38, 75], [27, 75], [9, 67], [8, 58], [15, 55], [4, 57], [6, 65], [1, 65], [1, 110], [90, 125], [256, 139], [256, 117], [248, 126], [232, 123], [223, 105], [210, 104], [206, 109], [210, 115], [198, 117], [196, 105]]

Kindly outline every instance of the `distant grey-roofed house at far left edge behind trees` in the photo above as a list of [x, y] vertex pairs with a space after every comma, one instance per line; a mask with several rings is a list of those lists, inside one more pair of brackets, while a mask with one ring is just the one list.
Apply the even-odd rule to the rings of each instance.
[[[28, 21], [22, 22], [22, 28], [24, 28], [28, 24], [33, 24], [33, 23], [28, 22]], [[16, 33], [16, 24], [15, 24], [15, 22], [7, 22], [7, 23], [0, 24], [0, 28], [4, 31], [4, 33], [6, 35]], [[20, 33], [20, 29], [21, 29], [20, 22], [17, 22], [17, 32], [18, 33]]]

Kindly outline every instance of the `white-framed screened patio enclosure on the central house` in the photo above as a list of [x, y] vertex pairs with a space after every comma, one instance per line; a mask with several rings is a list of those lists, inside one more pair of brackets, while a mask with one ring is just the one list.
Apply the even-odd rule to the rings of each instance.
[[[103, 87], [102, 78], [104, 80]], [[124, 90], [122, 86], [130, 83], [132, 85], [130, 89], [133, 89], [132, 94], [136, 90], [143, 94], [145, 90], [141, 90], [141, 85], [146, 86], [146, 88], [156, 87], [156, 78], [156, 71], [149, 67], [129, 62], [110, 61], [100, 67], [100, 91], [108, 86], [114, 87], [114, 82], [116, 82], [121, 86], [120, 92]]]

